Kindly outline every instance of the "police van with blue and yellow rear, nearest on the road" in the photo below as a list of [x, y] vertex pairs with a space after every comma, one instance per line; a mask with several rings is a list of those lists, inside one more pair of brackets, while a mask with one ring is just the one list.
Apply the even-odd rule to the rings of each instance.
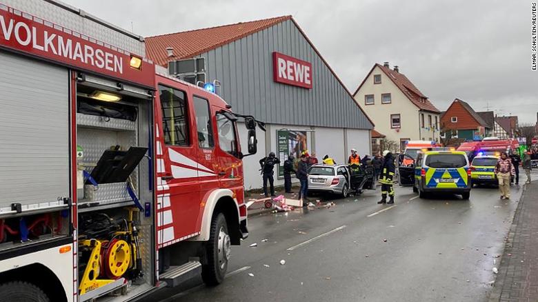
[[432, 192], [461, 194], [469, 199], [471, 170], [466, 152], [420, 152], [415, 161], [413, 192], [421, 198]]

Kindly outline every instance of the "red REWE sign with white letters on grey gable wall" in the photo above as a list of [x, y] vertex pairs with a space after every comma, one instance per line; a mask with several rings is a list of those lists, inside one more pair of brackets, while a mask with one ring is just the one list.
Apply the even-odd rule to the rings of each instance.
[[277, 83], [312, 88], [312, 64], [280, 52], [272, 53], [273, 79]]

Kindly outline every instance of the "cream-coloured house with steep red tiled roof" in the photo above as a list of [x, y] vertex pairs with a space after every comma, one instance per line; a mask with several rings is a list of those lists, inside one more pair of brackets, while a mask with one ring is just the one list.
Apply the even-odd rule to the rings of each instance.
[[353, 94], [355, 101], [374, 121], [377, 131], [405, 149], [406, 141], [439, 141], [439, 118], [435, 108], [398, 66], [376, 63]]

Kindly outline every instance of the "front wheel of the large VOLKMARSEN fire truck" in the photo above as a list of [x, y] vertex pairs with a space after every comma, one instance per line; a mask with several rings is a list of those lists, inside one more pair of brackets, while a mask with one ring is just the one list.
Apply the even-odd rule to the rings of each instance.
[[224, 281], [228, 261], [230, 260], [230, 235], [224, 214], [219, 213], [211, 221], [209, 241], [206, 244], [208, 263], [202, 265], [203, 283], [209, 286], [219, 285]]

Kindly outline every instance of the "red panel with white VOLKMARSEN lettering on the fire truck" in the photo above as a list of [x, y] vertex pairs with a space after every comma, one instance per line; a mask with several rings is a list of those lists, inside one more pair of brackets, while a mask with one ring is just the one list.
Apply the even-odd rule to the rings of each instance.
[[131, 68], [129, 52], [2, 4], [1, 47], [132, 83], [152, 86], [155, 76], [155, 66], [148, 61], [142, 61], [140, 70]]

